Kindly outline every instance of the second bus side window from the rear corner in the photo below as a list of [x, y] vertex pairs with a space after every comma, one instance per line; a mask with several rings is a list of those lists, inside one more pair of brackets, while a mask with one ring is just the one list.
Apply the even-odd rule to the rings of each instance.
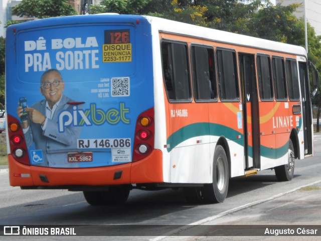
[[214, 49], [192, 46], [191, 54], [195, 100], [216, 100]]

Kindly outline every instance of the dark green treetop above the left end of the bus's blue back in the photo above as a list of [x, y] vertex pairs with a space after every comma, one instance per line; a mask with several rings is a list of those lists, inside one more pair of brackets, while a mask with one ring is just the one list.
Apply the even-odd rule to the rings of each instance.
[[68, 0], [23, 0], [13, 8], [13, 13], [19, 17], [32, 16], [39, 19], [77, 15]]

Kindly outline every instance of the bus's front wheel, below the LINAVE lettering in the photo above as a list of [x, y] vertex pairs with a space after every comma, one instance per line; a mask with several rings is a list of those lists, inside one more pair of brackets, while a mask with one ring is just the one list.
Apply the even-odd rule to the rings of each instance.
[[289, 140], [288, 163], [274, 168], [275, 176], [278, 181], [290, 181], [294, 174], [294, 148], [293, 143]]

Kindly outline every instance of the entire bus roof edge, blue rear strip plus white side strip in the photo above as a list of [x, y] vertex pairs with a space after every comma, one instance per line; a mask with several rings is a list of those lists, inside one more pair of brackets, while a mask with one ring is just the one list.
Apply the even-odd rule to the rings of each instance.
[[[86, 20], [85, 20], [86, 19]], [[108, 20], [107, 20], [108, 19]], [[68, 24], [83, 24], [83, 23], [134, 23], [136, 20], [148, 21], [152, 28], [161, 32], [177, 33], [180, 35], [194, 36], [203, 39], [209, 39], [216, 42], [230, 43], [240, 46], [250, 46], [262, 50], [271, 50], [275, 52], [290, 53], [294, 55], [306, 56], [305, 49], [300, 46], [283, 44], [279, 42], [239, 35], [220, 30], [209, 29], [191, 24], [180, 23], [172, 20], [161, 19], [149, 16], [135, 16], [135, 15], [117, 15], [117, 14], [99, 14], [99, 15], [82, 15], [82, 16], [68, 16], [56, 17], [42, 20], [36, 20], [18, 25], [9, 26], [8, 31], [17, 28], [17, 31], [28, 28], [38, 28], [45, 26], [57, 26]]]

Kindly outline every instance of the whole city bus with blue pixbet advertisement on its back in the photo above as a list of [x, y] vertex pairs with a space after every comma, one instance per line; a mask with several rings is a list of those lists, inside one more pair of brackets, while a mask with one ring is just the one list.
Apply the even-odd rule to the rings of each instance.
[[313, 155], [318, 73], [302, 47], [101, 14], [9, 26], [6, 57], [11, 186], [82, 191], [91, 205], [183, 188], [215, 203], [230, 178], [289, 181]]

